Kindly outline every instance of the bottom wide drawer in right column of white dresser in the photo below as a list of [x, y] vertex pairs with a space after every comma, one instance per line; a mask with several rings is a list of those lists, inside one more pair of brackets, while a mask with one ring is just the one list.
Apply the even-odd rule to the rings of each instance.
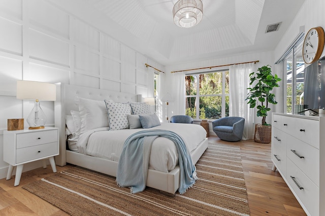
[[[290, 187], [309, 211], [310, 215], [319, 215], [319, 188], [290, 160], [287, 160], [286, 179]], [[303, 189], [299, 189], [297, 184]]]

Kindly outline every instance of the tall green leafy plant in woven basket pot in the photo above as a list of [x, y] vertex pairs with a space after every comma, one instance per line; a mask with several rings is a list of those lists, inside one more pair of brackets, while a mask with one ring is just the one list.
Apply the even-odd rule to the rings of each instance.
[[249, 74], [250, 83], [256, 82], [254, 87], [247, 88], [249, 90], [246, 100], [250, 108], [257, 108], [256, 115], [262, 117], [262, 124], [255, 125], [254, 141], [258, 143], [271, 142], [271, 124], [266, 122], [266, 116], [271, 110], [269, 103], [277, 104], [275, 95], [271, 93], [273, 88], [279, 87], [278, 81], [281, 79], [272, 74], [271, 66], [266, 65], [257, 69], [257, 72]]

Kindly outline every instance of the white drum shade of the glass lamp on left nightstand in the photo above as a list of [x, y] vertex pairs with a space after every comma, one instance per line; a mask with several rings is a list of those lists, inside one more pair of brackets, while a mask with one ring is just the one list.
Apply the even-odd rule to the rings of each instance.
[[17, 99], [22, 100], [56, 100], [56, 85], [37, 81], [17, 81]]

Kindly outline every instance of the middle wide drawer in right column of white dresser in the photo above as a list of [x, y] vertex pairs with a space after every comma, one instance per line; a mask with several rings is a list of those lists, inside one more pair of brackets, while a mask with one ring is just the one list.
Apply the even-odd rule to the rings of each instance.
[[287, 157], [319, 186], [319, 150], [287, 135]]

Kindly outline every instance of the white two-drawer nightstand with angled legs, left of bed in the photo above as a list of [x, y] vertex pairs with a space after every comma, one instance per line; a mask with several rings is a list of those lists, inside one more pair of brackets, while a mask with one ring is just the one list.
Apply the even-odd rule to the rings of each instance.
[[7, 180], [11, 179], [14, 166], [17, 166], [15, 186], [19, 185], [25, 163], [43, 160], [43, 168], [46, 168], [45, 159], [49, 159], [53, 172], [56, 172], [54, 156], [58, 154], [59, 129], [56, 127], [4, 131], [4, 161], [9, 163]]

